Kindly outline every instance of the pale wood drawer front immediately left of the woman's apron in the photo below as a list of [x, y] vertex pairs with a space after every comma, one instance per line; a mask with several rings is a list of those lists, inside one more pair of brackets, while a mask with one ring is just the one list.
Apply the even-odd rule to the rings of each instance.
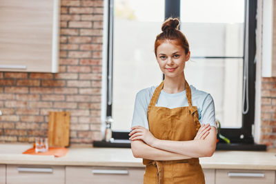
[[66, 166], [66, 184], [143, 183], [144, 168]]

